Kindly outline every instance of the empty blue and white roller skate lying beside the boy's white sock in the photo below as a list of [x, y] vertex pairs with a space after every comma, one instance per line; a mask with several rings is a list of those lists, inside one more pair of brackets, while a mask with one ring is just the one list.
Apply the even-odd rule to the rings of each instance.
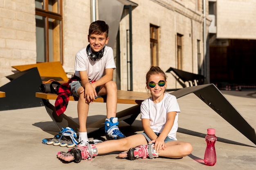
[[54, 145], [54, 146], [61, 146], [61, 147], [67, 146], [68, 148], [73, 148], [78, 144], [76, 132], [70, 127], [66, 127], [65, 129], [60, 131], [57, 135], [54, 136], [54, 138], [43, 139], [42, 142], [43, 144], [47, 144], [47, 145]]

